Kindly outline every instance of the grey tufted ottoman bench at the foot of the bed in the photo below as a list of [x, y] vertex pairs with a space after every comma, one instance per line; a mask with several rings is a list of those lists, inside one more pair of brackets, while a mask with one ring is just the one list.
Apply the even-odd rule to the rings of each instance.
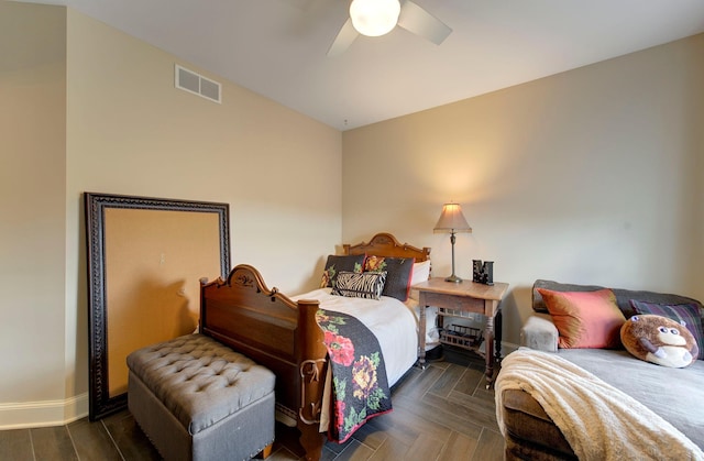
[[271, 453], [274, 374], [204, 334], [128, 355], [128, 405], [172, 460], [249, 460]]

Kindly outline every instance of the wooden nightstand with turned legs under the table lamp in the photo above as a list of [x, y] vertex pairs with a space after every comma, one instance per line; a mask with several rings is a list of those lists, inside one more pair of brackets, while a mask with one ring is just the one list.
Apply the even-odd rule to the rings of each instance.
[[[454, 341], [444, 337], [440, 342], [471, 349], [484, 355], [486, 360], [486, 388], [490, 388], [494, 378], [494, 360], [501, 360], [501, 301], [508, 290], [508, 284], [495, 283], [484, 285], [474, 282], [446, 282], [442, 278], [431, 278], [428, 282], [414, 285], [419, 292], [420, 328], [418, 329], [419, 359], [421, 367], [426, 365], [426, 308], [436, 306], [438, 316], [469, 318], [469, 314], [481, 314], [486, 317], [484, 329], [484, 353], [479, 351], [479, 344]], [[496, 358], [494, 358], [494, 319], [496, 321]]]

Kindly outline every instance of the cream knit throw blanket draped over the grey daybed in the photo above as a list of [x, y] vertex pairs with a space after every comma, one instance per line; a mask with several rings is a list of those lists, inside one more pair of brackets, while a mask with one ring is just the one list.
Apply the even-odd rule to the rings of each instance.
[[521, 389], [538, 400], [580, 460], [704, 460], [704, 452], [670, 422], [554, 353], [521, 348], [504, 359], [495, 383], [502, 432], [505, 389]]

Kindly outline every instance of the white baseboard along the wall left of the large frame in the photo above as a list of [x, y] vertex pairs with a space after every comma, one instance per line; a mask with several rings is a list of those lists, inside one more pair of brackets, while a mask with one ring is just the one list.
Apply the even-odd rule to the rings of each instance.
[[0, 404], [0, 430], [63, 426], [87, 415], [87, 393], [63, 400]]

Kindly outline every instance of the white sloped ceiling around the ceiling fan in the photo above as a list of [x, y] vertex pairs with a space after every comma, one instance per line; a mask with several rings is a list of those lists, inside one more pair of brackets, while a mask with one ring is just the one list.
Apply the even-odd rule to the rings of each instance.
[[396, 28], [327, 57], [348, 0], [40, 2], [74, 8], [339, 130], [704, 32], [704, 0], [416, 0], [452, 28], [441, 45]]

